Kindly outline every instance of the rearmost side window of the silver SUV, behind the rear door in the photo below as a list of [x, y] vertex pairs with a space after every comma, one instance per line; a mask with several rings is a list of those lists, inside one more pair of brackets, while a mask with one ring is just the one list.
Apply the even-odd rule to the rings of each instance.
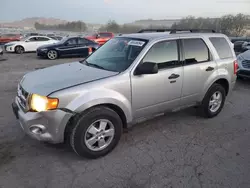
[[220, 59], [226, 59], [233, 57], [232, 50], [223, 37], [211, 37], [209, 38], [212, 44], [214, 45]]

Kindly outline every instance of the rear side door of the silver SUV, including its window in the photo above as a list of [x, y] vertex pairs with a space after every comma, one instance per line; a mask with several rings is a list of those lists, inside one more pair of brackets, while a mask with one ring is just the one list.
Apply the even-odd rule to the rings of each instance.
[[186, 106], [199, 101], [211, 75], [215, 74], [216, 62], [202, 38], [183, 38], [181, 43], [184, 60], [181, 105]]

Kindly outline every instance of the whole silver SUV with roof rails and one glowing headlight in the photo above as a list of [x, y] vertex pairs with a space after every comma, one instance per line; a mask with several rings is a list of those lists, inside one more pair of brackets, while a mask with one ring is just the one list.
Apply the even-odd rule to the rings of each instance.
[[198, 106], [220, 113], [236, 81], [230, 40], [203, 32], [117, 36], [80, 62], [26, 74], [12, 104], [21, 127], [45, 142], [69, 142], [80, 156], [113, 150], [138, 120]]

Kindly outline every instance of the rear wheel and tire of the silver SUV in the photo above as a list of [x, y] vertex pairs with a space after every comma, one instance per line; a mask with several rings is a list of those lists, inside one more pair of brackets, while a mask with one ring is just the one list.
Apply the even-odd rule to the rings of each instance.
[[225, 99], [226, 91], [224, 87], [220, 84], [213, 84], [207, 91], [200, 106], [201, 115], [206, 118], [217, 116], [224, 106]]

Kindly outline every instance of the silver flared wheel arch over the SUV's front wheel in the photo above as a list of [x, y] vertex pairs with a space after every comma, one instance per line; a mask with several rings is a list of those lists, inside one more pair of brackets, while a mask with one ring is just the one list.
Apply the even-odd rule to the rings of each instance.
[[124, 112], [127, 123], [132, 121], [133, 117], [130, 100], [119, 92], [106, 88], [98, 88], [89, 92], [84, 92], [83, 95], [71, 101], [66, 108], [73, 112], [81, 113], [93, 106], [101, 104], [113, 104], [118, 106]]

